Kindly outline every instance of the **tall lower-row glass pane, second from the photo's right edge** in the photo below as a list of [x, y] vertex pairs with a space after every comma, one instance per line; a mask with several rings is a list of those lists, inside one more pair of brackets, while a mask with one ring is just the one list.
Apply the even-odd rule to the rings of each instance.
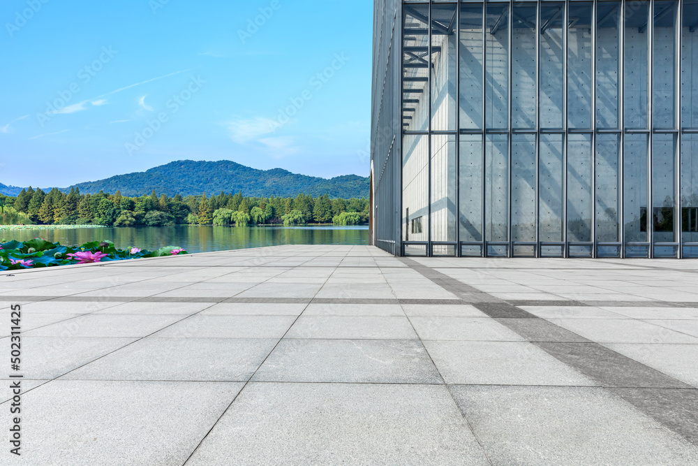
[[674, 242], [676, 208], [676, 135], [652, 138], [652, 211], [655, 242]]

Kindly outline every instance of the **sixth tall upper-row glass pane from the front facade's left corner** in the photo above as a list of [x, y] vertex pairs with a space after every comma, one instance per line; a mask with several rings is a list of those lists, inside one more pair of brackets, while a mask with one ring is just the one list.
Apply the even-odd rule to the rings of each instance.
[[563, 20], [565, 3], [540, 7], [540, 127], [563, 127], [564, 76]]

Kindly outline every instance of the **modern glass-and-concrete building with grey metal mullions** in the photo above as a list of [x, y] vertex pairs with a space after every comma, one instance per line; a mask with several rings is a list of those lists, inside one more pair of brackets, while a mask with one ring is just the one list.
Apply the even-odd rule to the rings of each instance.
[[698, 0], [376, 0], [373, 241], [698, 257]]

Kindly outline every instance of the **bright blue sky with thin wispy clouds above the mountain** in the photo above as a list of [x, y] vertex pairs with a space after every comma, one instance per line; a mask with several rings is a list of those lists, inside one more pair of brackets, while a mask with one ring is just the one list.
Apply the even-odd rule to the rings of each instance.
[[371, 0], [2, 0], [0, 182], [369, 173]]

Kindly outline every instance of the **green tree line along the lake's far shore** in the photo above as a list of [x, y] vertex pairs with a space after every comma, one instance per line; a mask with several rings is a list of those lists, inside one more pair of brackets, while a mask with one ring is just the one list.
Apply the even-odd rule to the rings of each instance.
[[368, 222], [369, 201], [365, 198], [330, 199], [327, 194], [313, 198], [245, 197], [224, 193], [207, 197], [170, 198], [153, 190], [150, 196], [128, 197], [116, 194], [80, 194], [51, 189], [22, 189], [17, 197], [0, 194], [5, 211], [3, 223], [43, 225], [171, 226], [250, 224], [330, 224], [358, 225]]

